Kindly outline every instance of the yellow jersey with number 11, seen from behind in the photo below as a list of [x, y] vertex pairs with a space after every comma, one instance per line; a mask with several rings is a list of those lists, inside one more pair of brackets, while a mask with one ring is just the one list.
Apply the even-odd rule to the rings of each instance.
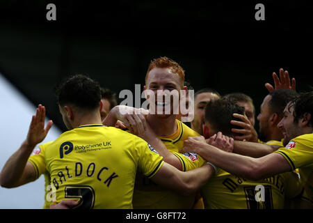
[[201, 189], [206, 209], [282, 209], [286, 199], [302, 191], [298, 175], [293, 172], [256, 181], [223, 169], [218, 169]]

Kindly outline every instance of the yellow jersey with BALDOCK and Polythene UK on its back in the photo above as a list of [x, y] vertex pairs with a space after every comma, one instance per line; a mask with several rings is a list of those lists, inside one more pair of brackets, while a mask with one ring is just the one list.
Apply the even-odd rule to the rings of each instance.
[[104, 125], [64, 132], [45, 151], [56, 202], [79, 208], [132, 208], [137, 169], [148, 178], [163, 164], [154, 148], [134, 134]]

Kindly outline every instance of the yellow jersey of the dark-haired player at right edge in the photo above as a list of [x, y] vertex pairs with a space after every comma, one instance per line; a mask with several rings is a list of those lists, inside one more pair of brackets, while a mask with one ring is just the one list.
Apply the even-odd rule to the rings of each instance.
[[303, 199], [313, 203], [313, 132], [291, 139], [287, 146], [275, 153], [284, 156], [293, 170], [298, 168], [305, 188]]

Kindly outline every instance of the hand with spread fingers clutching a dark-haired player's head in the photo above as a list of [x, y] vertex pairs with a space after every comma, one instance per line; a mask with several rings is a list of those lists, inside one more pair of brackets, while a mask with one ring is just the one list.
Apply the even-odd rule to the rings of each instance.
[[241, 129], [232, 128], [232, 132], [242, 134], [241, 136], [234, 137], [234, 139], [240, 140], [240, 141], [246, 140], [246, 141], [257, 142], [257, 131], [255, 131], [255, 128], [253, 128], [249, 119], [246, 116], [243, 116], [241, 114], [236, 114], [236, 113], [234, 113], [232, 116], [234, 116], [234, 118], [239, 118], [241, 120], [241, 121], [235, 121], [235, 120], [230, 121], [232, 125], [237, 125], [241, 127]]

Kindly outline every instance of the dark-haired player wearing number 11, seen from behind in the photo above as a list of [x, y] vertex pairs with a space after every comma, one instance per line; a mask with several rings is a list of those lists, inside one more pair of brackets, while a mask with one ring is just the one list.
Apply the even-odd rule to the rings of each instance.
[[[210, 138], [218, 132], [227, 137], [235, 137], [234, 125], [230, 123], [232, 114], [244, 114], [243, 107], [230, 98], [220, 98], [208, 102], [205, 108], [204, 137]], [[264, 199], [255, 199], [256, 187], [264, 187]], [[208, 183], [202, 187], [205, 208], [218, 209], [261, 209], [284, 208], [285, 201], [297, 197], [302, 192], [298, 176], [292, 172], [265, 178], [248, 180], [218, 169]]]

